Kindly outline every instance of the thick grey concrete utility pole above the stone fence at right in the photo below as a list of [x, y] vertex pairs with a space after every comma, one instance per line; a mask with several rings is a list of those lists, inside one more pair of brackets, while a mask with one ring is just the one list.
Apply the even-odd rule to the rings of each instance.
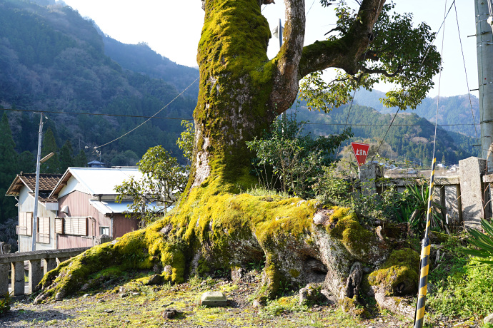
[[[475, 0], [476, 48], [479, 88], [479, 118], [481, 125], [481, 157], [487, 159], [488, 171], [493, 170], [493, 35], [492, 0]], [[488, 153], [490, 155], [488, 156]]]

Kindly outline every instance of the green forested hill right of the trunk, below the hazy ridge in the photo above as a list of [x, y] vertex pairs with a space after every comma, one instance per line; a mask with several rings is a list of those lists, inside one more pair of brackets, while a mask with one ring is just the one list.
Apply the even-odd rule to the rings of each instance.
[[[348, 116], [349, 110], [351, 113]], [[394, 113], [379, 113], [373, 108], [354, 104], [336, 108], [329, 113], [320, 113], [309, 111], [307, 106], [301, 103], [297, 108], [292, 108], [287, 115], [296, 116], [297, 121], [308, 121], [305, 130], [314, 135], [340, 133], [347, 121], [347, 126], [354, 133], [354, 138], [349, 142], [365, 140], [379, 144], [385, 136], [385, 143], [379, 154], [386, 158], [405, 156], [429, 163], [432, 157], [434, 124], [416, 113], [399, 113], [390, 128]], [[438, 128], [435, 157], [438, 161], [458, 163], [459, 160], [477, 152], [472, 147], [474, 143], [474, 138]]]

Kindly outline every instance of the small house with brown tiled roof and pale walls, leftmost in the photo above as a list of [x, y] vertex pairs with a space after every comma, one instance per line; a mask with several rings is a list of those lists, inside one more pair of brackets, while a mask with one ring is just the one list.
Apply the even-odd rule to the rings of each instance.
[[[36, 250], [55, 250], [56, 242], [54, 222], [58, 211], [58, 200], [49, 195], [59, 182], [61, 174], [39, 175], [38, 224], [36, 232]], [[36, 174], [21, 173], [7, 190], [7, 196], [17, 200], [19, 225], [16, 226], [19, 252], [32, 250], [32, 227], [34, 212], [34, 190], [36, 189]]]

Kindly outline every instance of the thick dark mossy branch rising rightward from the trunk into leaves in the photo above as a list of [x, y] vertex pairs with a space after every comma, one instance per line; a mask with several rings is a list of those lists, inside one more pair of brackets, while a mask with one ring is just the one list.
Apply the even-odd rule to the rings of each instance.
[[384, 6], [385, 0], [363, 0], [357, 19], [347, 34], [335, 41], [315, 41], [303, 48], [299, 63], [301, 79], [314, 71], [325, 68], [342, 68], [349, 74], [356, 74], [360, 67], [358, 62], [367, 51], [373, 37], [373, 26]]

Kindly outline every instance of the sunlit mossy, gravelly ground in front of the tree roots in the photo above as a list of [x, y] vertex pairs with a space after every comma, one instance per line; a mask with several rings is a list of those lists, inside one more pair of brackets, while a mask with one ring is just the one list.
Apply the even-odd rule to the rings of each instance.
[[[141, 272], [140, 276], [150, 272]], [[255, 286], [260, 273], [251, 270], [241, 280], [192, 278], [189, 282], [146, 286], [139, 275], [117, 285], [54, 302], [34, 305], [32, 299], [13, 304], [0, 318], [0, 327], [412, 327], [412, 320], [389, 312], [377, 312], [371, 319], [344, 313], [337, 304], [298, 305], [298, 293], [287, 290], [266, 307], [254, 307]], [[197, 305], [200, 295], [221, 290], [229, 307]], [[164, 309], [176, 309], [174, 319], [164, 319]], [[439, 319], [425, 327], [481, 327], [474, 319]]]

